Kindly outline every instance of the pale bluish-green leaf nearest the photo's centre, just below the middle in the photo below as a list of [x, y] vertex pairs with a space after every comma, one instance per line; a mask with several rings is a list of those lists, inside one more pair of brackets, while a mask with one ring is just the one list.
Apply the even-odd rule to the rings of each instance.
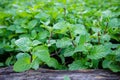
[[57, 40], [56, 42], [57, 48], [65, 48], [67, 46], [70, 46], [71, 44], [71, 40], [67, 37], [62, 38], [61, 40]]

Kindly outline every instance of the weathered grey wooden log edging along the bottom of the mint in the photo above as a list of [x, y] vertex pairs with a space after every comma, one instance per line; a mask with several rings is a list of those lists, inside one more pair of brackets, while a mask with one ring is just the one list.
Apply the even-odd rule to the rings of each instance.
[[0, 80], [120, 80], [120, 73], [102, 69], [90, 70], [50, 70], [40, 68], [17, 73], [12, 67], [0, 69]]

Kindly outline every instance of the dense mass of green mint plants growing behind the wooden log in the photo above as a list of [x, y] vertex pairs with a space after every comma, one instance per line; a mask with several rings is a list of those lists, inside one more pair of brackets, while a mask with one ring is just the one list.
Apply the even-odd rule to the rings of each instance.
[[120, 72], [119, 11], [119, 0], [1, 1], [0, 66]]

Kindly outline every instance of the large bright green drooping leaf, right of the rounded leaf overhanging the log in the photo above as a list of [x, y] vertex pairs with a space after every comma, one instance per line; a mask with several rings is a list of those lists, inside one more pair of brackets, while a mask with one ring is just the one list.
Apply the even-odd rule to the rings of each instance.
[[47, 63], [50, 60], [50, 54], [46, 46], [41, 45], [33, 48], [32, 54], [37, 56], [43, 62]]

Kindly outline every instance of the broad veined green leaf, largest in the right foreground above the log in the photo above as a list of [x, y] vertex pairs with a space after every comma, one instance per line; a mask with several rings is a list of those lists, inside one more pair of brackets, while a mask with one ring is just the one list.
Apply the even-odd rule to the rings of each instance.
[[87, 56], [90, 59], [100, 59], [106, 57], [111, 50], [103, 45], [94, 46], [90, 54]]

